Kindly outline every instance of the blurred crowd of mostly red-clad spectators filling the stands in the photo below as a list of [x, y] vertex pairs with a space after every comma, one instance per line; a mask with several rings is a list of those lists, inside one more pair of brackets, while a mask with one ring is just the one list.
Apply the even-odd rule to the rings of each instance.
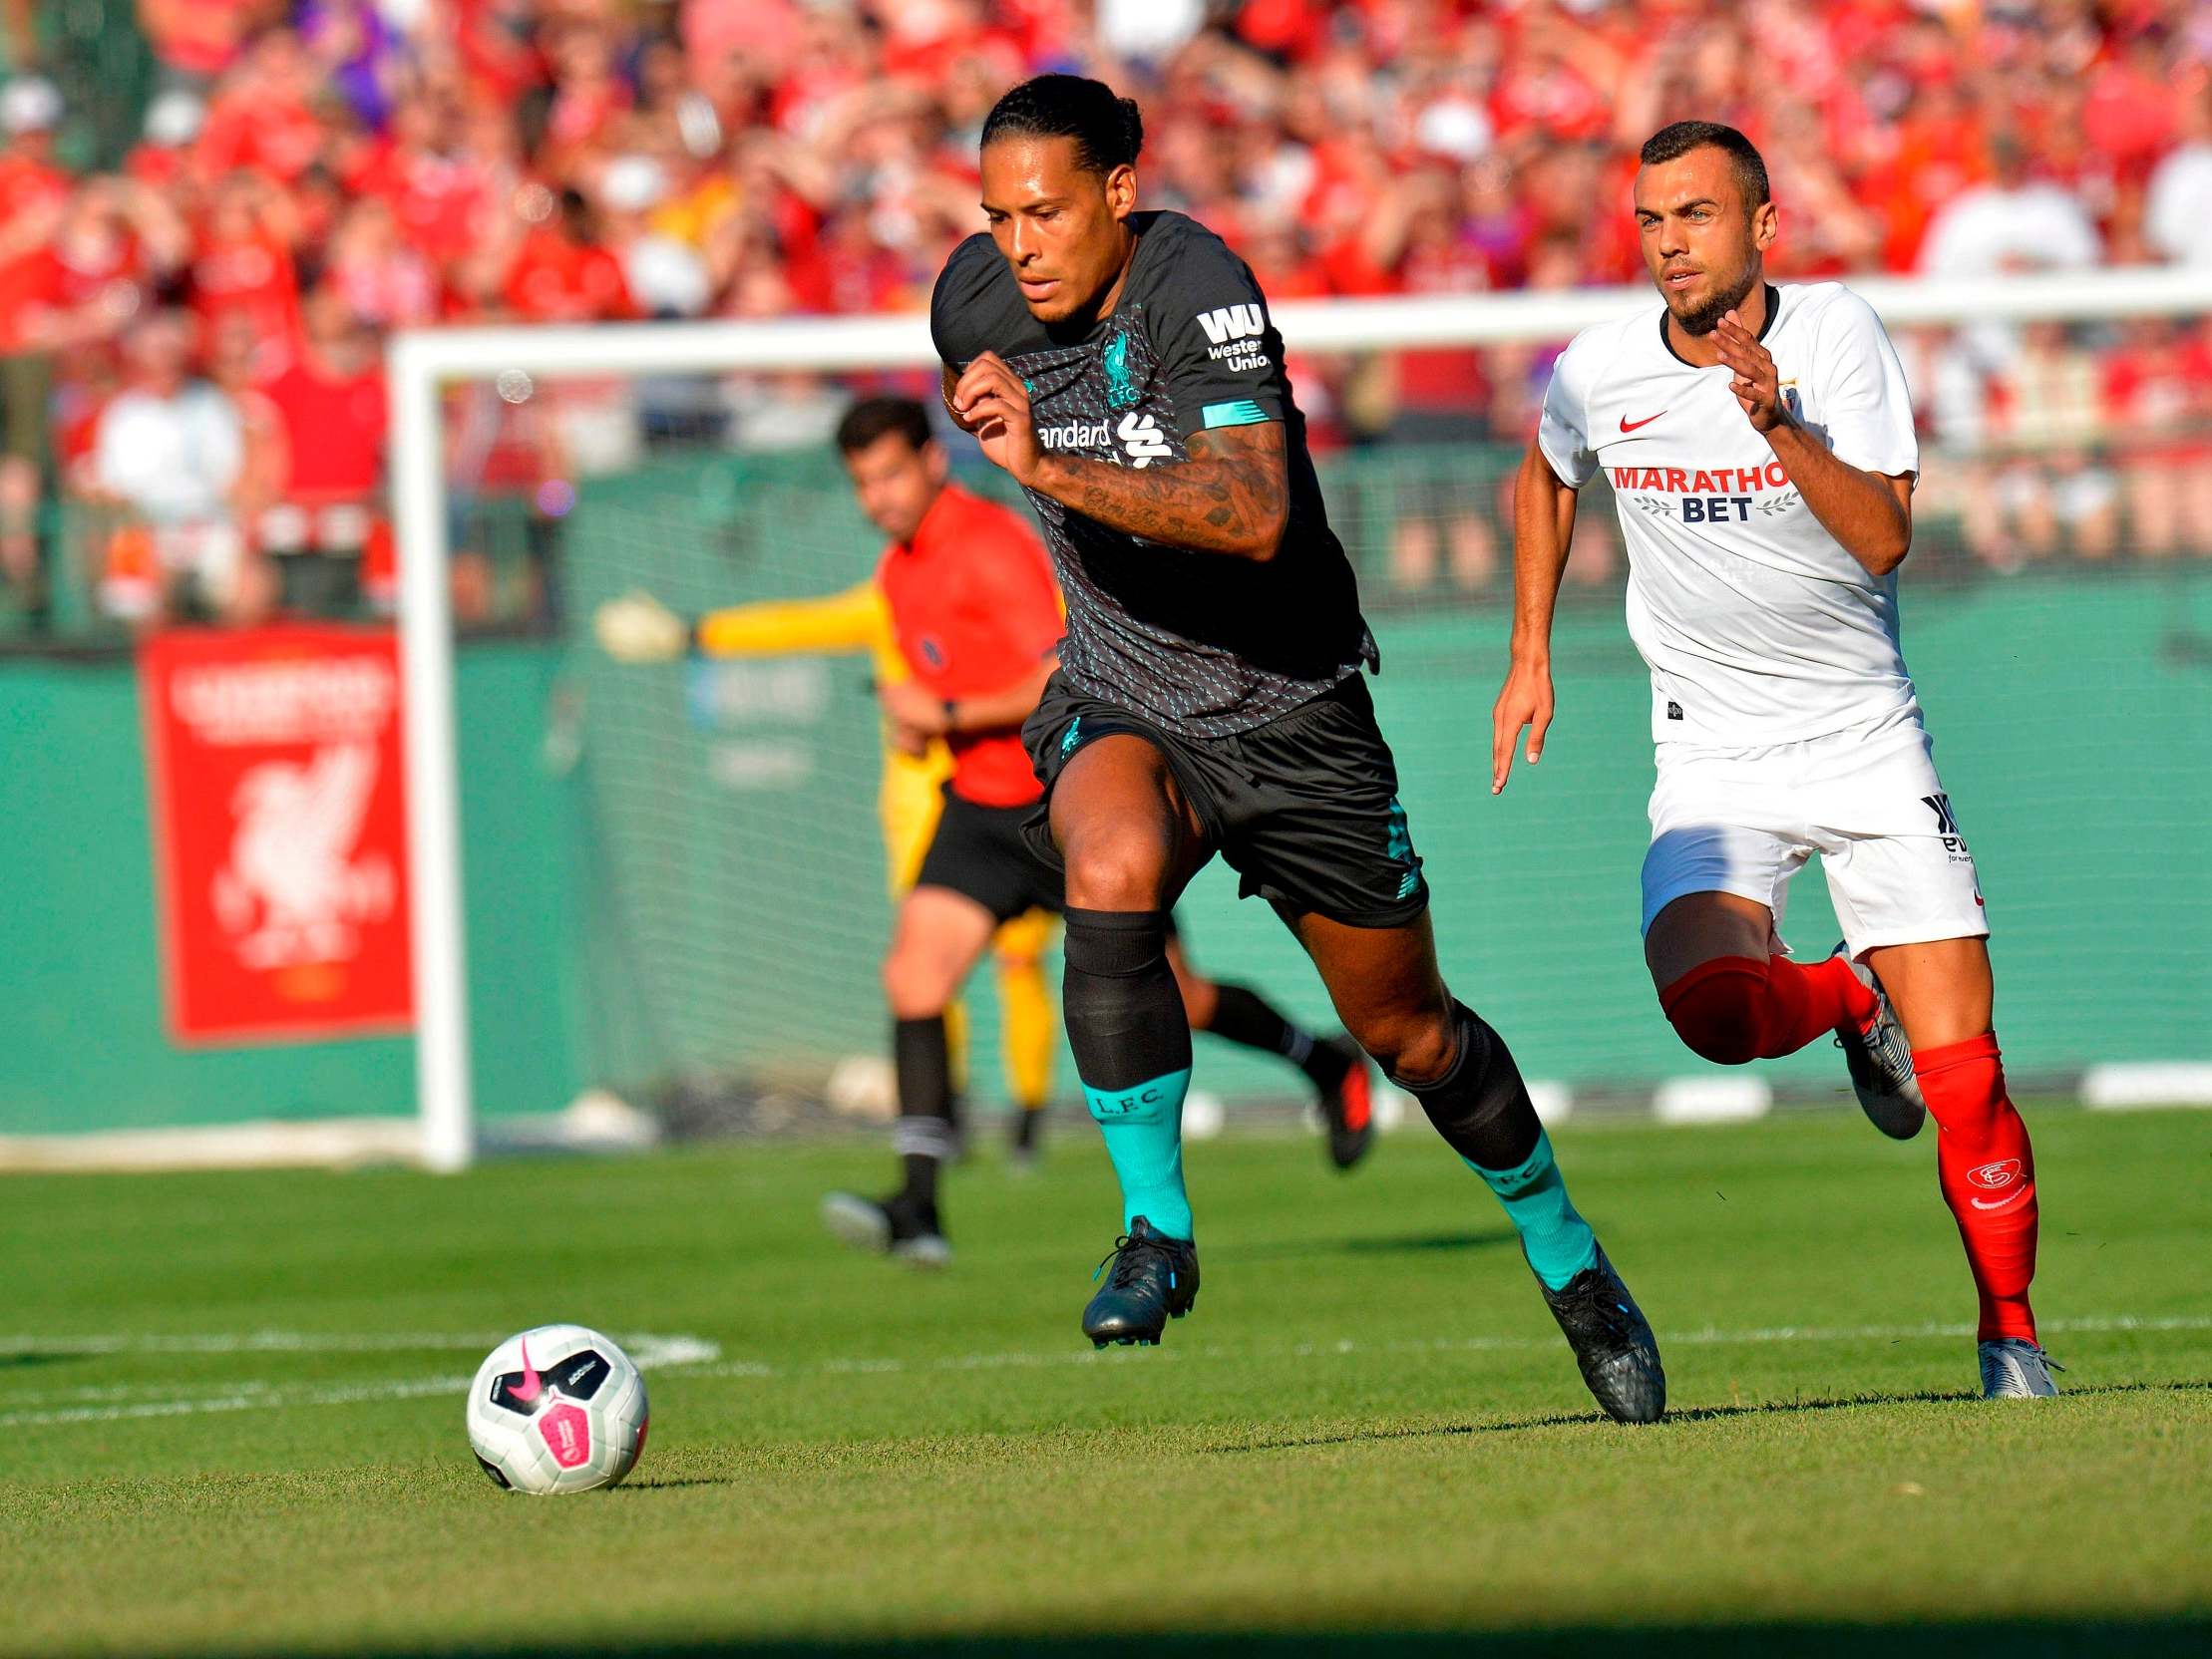
[[[93, 586], [119, 617], [307, 602], [292, 551], [343, 553], [369, 602], [387, 593], [387, 330], [920, 307], [978, 226], [982, 115], [1042, 69], [1133, 91], [1148, 201], [1221, 230], [1276, 299], [1635, 281], [1635, 146], [1683, 115], [1765, 150], [1781, 276], [2212, 274], [2212, 9], [2190, 0], [142, 0], [139, 18], [164, 91], [115, 173], [58, 161], [69, 111], [46, 80], [0, 86], [0, 586], [40, 586], [60, 491], [108, 526]], [[2212, 551], [2201, 319], [1902, 345], [1929, 436], [1978, 456], [1958, 515], [1986, 562]], [[1334, 440], [1517, 440], [1548, 356], [1294, 369]], [[796, 394], [754, 396], [790, 414]], [[478, 480], [538, 500], [622, 460], [606, 398], [507, 414], [453, 422]], [[726, 440], [759, 429], [741, 400], [721, 414]], [[1493, 555], [1447, 564], [1486, 580]]]

